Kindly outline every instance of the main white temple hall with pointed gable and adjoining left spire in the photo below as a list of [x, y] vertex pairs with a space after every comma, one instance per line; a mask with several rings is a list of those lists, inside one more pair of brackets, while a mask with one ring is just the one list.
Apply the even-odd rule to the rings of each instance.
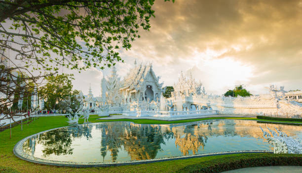
[[111, 114], [121, 114], [130, 110], [133, 105], [148, 107], [151, 103], [159, 103], [163, 85], [159, 83], [159, 79], [152, 69], [152, 64], [135, 63], [135, 67], [123, 80], [118, 77], [113, 66], [111, 76], [104, 76], [101, 81], [103, 108], [108, 107]]

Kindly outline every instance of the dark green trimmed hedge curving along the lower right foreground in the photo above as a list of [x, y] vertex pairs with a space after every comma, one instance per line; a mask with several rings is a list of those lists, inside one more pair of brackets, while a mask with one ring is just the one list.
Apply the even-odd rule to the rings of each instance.
[[300, 154], [245, 154], [189, 165], [177, 173], [220, 173], [248, 167], [302, 166]]

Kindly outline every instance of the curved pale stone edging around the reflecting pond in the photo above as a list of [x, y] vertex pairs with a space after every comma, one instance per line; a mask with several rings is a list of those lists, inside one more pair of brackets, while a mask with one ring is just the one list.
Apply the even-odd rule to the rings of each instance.
[[[215, 119], [208, 119], [208, 120], [201, 120], [204, 122], [209, 122], [209, 120], [215, 120]], [[131, 121], [126, 121], [131, 122]], [[194, 121], [198, 122], [198, 121]], [[194, 122], [186, 122], [182, 124], [191, 124]], [[95, 122], [95, 123], [103, 123], [103, 122]], [[132, 122], [134, 123], [134, 122]], [[90, 123], [94, 124], [94, 123]], [[178, 123], [176, 123], [178, 124]], [[84, 125], [84, 124], [78, 124], [78, 125]], [[163, 162], [163, 161], [171, 161], [171, 160], [181, 160], [181, 159], [190, 159], [190, 158], [198, 158], [198, 157], [206, 157], [206, 156], [217, 156], [217, 155], [226, 155], [226, 154], [241, 154], [241, 153], [273, 153], [271, 150], [243, 150], [243, 151], [226, 151], [226, 152], [214, 152], [214, 153], [204, 153], [204, 154], [195, 154], [195, 155], [187, 155], [187, 156], [175, 156], [175, 157], [165, 157], [165, 158], [156, 158], [156, 159], [149, 159], [149, 160], [140, 160], [140, 161], [123, 161], [123, 162], [111, 162], [111, 163], [103, 163], [103, 162], [66, 162], [66, 161], [54, 161], [54, 160], [47, 160], [47, 159], [41, 159], [34, 156], [31, 156], [24, 152], [23, 150], [23, 144], [26, 140], [29, 138], [32, 138], [38, 134], [45, 133], [48, 131], [65, 128], [70, 126], [64, 126], [64, 127], [58, 127], [53, 128], [49, 130], [45, 130], [33, 135], [30, 135], [22, 140], [20, 140], [17, 144], [15, 144], [13, 153], [15, 156], [22, 160], [26, 160], [29, 162], [37, 163], [37, 164], [43, 164], [43, 165], [53, 165], [53, 166], [65, 166], [65, 167], [111, 167], [111, 166], [123, 166], [123, 165], [138, 165], [138, 164], [146, 164], [146, 163], [154, 163], [154, 162]]]

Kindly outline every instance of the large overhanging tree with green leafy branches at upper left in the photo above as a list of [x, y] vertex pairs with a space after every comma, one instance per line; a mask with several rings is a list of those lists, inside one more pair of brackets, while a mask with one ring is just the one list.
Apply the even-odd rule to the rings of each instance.
[[[15, 116], [4, 109], [13, 104], [15, 72], [28, 75], [21, 83], [26, 85], [19, 86], [23, 89], [29, 87], [29, 82], [41, 85], [40, 79], [63, 67], [80, 72], [123, 61], [120, 49], [130, 49], [132, 42], [140, 38], [139, 30], [151, 28], [153, 3], [154, 0], [0, 0], [3, 118]], [[2, 66], [3, 59], [6, 63]]]

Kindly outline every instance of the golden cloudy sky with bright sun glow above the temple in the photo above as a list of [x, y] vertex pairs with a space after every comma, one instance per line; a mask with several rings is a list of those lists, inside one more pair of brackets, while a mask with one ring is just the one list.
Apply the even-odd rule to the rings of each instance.
[[[164, 86], [183, 71], [207, 93], [224, 94], [243, 84], [252, 94], [269, 85], [302, 90], [302, 0], [156, 0], [150, 31], [129, 51], [121, 50], [124, 77], [138, 63], [153, 63]], [[101, 79], [111, 69], [75, 74], [75, 89], [100, 95]]]

